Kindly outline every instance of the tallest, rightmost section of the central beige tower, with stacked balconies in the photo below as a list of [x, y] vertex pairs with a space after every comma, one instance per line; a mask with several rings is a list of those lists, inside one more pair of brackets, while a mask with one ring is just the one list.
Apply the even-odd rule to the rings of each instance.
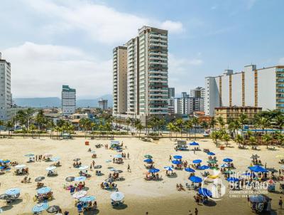
[[168, 31], [143, 26], [139, 34], [139, 114], [168, 114]]

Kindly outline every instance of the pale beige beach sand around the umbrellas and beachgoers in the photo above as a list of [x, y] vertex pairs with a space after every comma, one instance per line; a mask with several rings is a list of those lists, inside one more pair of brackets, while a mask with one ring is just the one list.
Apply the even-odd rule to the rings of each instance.
[[[92, 148], [96, 151], [97, 159], [94, 159], [96, 164], [102, 165], [103, 176], [96, 176], [94, 171], [88, 171], [92, 174], [92, 177], [85, 181], [88, 188], [87, 194], [97, 197], [98, 211], [97, 214], [145, 214], [148, 211], [149, 214], [188, 214], [188, 211], [192, 212], [195, 207], [200, 211], [199, 214], [253, 214], [251, 212], [249, 203], [246, 198], [231, 198], [229, 194], [222, 196], [222, 200], [214, 202], [210, 206], [197, 205], [193, 199], [196, 194], [195, 191], [177, 191], [176, 184], [190, 183], [188, 180], [189, 173], [181, 170], [177, 170], [178, 177], [168, 178], [165, 176], [165, 170], [163, 167], [170, 165], [169, 155], [175, 154], [182, 155], [182, 159], [187, 159], [190, 163], [193, 159], [203, 159], [203, 164], [206, 164], [208, 156], [206, 153], [200, 151], [194, 154], [190, 152], [175, 152], [174, 150], [174, 138], [172, 141], [164, 138], [156, 142], [143, 142], [138, 138], [125, 138], [116, 139], [124, 142], [124, 146], [127, 146], [130, 159], [124, 159], [124, 164], [106, 163], [107, 159], [112, 159], [114, 154], [117, 154], [113, 150], [105, 150], [104, 147], [96, 149], [94, 145], [109, 144], [109, 140], [88, 140], [89, 146], [84, 145], [84, 138], [75, 138], [74, 140], [51, 140], [48, 137], [41, 137], [40, 139], [21, 138], [16, 137], [12, 139], [0, 140], [0, 159], [10, 159], [11, 161], [17, 161], [19, 164], [26, 164], [29, 168], [29, 177], [32, 179], [30, 184], [22, 184], [21, 179], [23, 176], [13, 175], [14, 168], [11, 172], [6, 172], [0, 175], [0, 194], [3, 194], [6, 189], [12, 187], [18, 187], [21, 189], [21, 199], [13, 204], [6, 205], [6, 203], [0, 200], [0, 207], [4, 210], [4, 214], [32, 214], [31, 209], [36, 204], [33, 201], [33, 196], [36, 194], [36, 182], [35, 177], [45, 176], [43, 183], [45, 186], [51, 187], [55, 199], [48, 202], [49, 205], [58, 205], [63, 211], [66, 209], [70, 211], [70, 214], [78, 214], [75, 208], [75, 199], [72, 198], [70, 192], [63, 189], [65, 177], [78, 176], [78, 169], [72, 167], [72, 159], [80, 157], [83, 165], [89, 165], [92, 162], [91, 153], [87, 150]], [[222, 163], [222, 159], [225, 157], [231, 157], [234, 159], [234, 165], [236, 170], [245, 171], [249, 164], [251, 164], [251, 154], [258, 154], [261, 157], [263, 164], [267, 162], [267, 167], [280, 168], [278, 159], [275, 158], [277, 154], [283, 154], [284, 150], [279, 148], [277, 150], [266, 150], [266, 147], [261, 147], [261, 151], [253, 150], [239, 150], [234, 142], [231, 142], [231, 147], [226, 147], [225, 150], [219, 150], [211, 140], [198, 140], [200, 142], [200, 148], [208, 148], [210, 151], [215, 152], [219, 164]], [[52, 162], [33, 162], [26, 163], [28, 158], [24, 157], [24, 154], [45, 154], [50, 153], [53, 156], [60, 157], [62, 167], [58, 167], [58, 177], [46, 177], [45, 168]], [[151, 154], [155, 162], [155, 167], [160, 169], [160, 175], [163, 177], [163, 181], [160, 182], [146, 182], [143, 156], [144, 154]], [[131, 172], [127, 172], [127, 164], [131, 167]], [[120, 192], [125, 194], [124, 203], [126, 204], [123, 209], [113, 209], [110, 204], [111, 192], [102, 190], [99, 184], [107, 178], [109, 174], [108, 167], [114, 167], [121, 169], [123, 176], [126, 180], [122, 182], [115, 182], [118, 184]], [[202, 171], [203, 172], [203, 171]], [[197, 176], [200, 175], [200, 171], [197, 171]], [[74, 184], [74, 182], [70, 182]], [[278, 184], [277, 184], [278, 185]], [[277, 186], [279, 189], [279, 185]], [[272, 200], [273, 214], [281, 214], [282, 211], [278, 211], [278, 198], [280, 194], [269, 193]], [[284, 211], [284, 210], [283, 210]], [[42, 214], [48, 214], [43, 212]], [[84, 213], [88, 214], [88, 213]], [[89, 213], [91, 214], [91, 213]], [[92, 213], [94, 214], [94, 213]]]

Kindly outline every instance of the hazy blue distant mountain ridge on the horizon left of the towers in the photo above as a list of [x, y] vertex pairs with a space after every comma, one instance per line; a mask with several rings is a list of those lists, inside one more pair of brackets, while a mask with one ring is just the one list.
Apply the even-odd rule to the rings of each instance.
[[[97, 108], [98, 101], [103, 98], [108, 100], [108, 106], [112, 107], [112, 95], [107, 94], [95, 99], [78, 99], [77, 107], [78, 108]], [[58, 97], [50, 98], [14, 98], [14, 103], [21, 107], [30, 107], [30, 108], [53, 108], [61, 107], [61, 99]]]

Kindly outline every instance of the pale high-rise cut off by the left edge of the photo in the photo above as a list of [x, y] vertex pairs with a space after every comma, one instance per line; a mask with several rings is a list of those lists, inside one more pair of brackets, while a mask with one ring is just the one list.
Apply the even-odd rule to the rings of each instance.
[[11, 63], [1, 58], [0, 53], [0, 120], [11, 119]]

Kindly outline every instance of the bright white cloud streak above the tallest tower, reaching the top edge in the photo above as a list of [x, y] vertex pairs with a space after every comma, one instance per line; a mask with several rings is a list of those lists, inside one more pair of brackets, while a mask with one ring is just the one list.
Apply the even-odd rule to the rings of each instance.
[[[43, 30], [49, 33], [62, 33], [79, 30], [93, 40], [102, 43], [124, 43], [137, 35], [143, 25], [168, 29], [170, 33], [180, 33], [180, 21], [159, 21], [143, 16], [122, 13], [109, 6], [94, 4], [91, 1], [46, 1], [28, 0], [28, 6], [38, 14], [49, 18]], [[61, 3], [61, 4], [60, 4]]]

